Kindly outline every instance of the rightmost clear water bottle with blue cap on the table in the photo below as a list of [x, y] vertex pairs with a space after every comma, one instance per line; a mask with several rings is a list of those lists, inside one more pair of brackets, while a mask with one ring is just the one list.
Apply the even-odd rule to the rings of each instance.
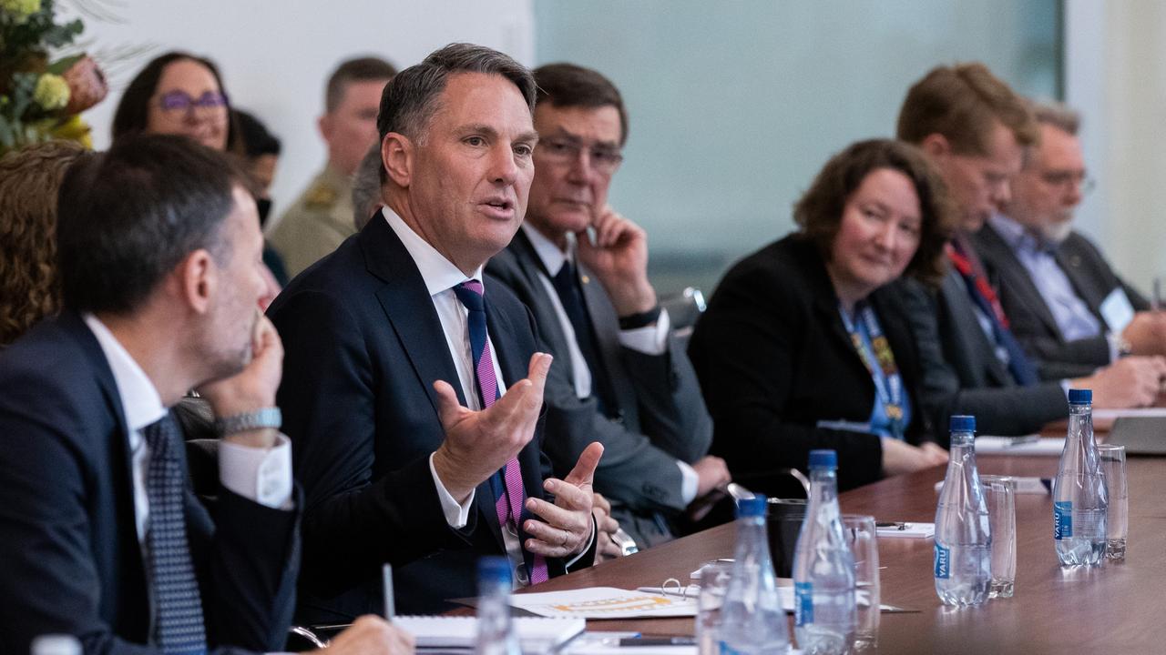
[[1053, 478], [1053, 543], [1062, 566], [1105, 556], [1105, 476], [1093, 438], [1093, 392], [1069, 389], [1069, 434]]

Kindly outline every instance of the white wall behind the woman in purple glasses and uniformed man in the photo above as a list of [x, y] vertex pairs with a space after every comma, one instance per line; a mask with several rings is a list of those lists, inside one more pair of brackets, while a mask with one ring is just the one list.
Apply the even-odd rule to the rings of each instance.
[[[121, 90], [150, 58], [185, 49], [218, 63], [237, 106], [254, 112], [283, 141], [274, 212], [287, 207], [323, 165], [316, 132], [324, 83], [343, 59], [374, 54], [399, 68], [454, 41], [498, 48], [522, 63], [534, 55], [528, 0], [89, 0], [122, 20], [85, 17], [86, 48], [108, 55], [131, 45], [155, 48], [131, 61], [113, 61], [110, 97], [86, 118], [94, 146], [108, 146], [110, 124]], [[64, 3], [62, 3], [63, 6]]]

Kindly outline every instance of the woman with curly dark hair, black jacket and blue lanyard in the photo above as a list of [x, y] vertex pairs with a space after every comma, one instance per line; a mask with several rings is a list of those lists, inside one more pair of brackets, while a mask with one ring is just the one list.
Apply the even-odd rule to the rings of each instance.
[[693, 332], [712, 453], [766, 493], [813, 449], [838, 452], [843, 490], [947, 462], [892, 284], [942, 277], [954, 218], [937, 172], [911, 146], [862, 141], [819, 172], [794, 220], [729, 270]]

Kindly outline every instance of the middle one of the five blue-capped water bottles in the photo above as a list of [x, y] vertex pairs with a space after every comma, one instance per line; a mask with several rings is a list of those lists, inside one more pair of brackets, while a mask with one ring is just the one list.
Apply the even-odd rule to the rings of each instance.
[[809, 452], [809, 501], [794, 552], [794, 633], [802, 653], [815, 655], [849, 652], [858, 624], [837, 470], [835, 451]]

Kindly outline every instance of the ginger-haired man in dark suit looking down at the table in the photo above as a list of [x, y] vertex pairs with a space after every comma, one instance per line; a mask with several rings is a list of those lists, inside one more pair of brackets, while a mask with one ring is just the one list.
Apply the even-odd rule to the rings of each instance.
[[970, 235], [1009, 200], [1024, 148], [1038, 139], [1024, 99], [983, 64], [939, 66], [907, 92], [898, 136], [932, 160], [960, 217], [940, 291], [908, 284], [905, 294], [923, 362], [923, 403], [936, 424], [971, 414], [984, 434], [1032, 432], [1068, 414], [1069, 386], [1093, 389], [1095, 407], [1152, 402], [1166, 373], [1154, 359], [1041, 382], [971, 245]]

